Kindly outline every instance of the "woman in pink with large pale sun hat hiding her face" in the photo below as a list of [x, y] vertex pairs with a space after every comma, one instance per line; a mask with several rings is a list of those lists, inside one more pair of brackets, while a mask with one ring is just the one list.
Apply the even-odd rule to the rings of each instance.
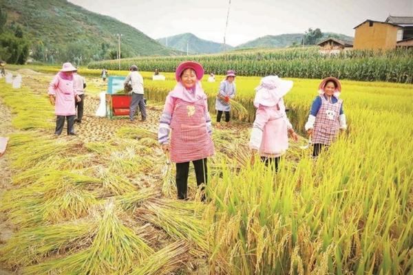
[[254, 106], [257, 108], [249, 147], [253, 153], [259, 153], [266, 166], [271, 164], [278, 170], [279, 159], [288, 148], [288, 134], [294, 141], [298, 140], [293, 126], [290, 124], [283, 97], [293, 87], [293, 81], [282, 80], [278, 76], [262, 78], [255, 88]]

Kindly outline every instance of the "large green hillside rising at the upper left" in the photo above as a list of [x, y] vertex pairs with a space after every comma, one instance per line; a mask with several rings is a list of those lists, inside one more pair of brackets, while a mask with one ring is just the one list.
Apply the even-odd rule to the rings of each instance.
[[32, 42], [38, 61], [72, 61], [116, 58], [122, 34], [122, 57], [177, 55], [131, 25], [112, 17], [89, 12], [65, 0], [1, 0], [8, 14], [6, 28], [20, 25]]

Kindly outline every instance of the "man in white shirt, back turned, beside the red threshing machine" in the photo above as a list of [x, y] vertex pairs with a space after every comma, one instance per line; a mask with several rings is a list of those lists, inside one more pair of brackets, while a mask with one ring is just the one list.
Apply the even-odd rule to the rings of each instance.
[[132, 100], [129, 106], [129, 122], [134, 122], [136, 109], [139, 107], [142, 119], [140, 121], [147, 120], [145, 99], [143, 98], [143, 78], [138, 73], [138, 66], [131, 65], [130, 72], [125, 79], [125, 85], [129, 82], [132, 86]]

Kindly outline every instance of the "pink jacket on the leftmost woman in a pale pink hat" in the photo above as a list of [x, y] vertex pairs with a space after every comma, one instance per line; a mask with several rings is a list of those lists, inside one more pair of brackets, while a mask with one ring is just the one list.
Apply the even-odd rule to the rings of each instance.
[[54, 113], [56, 115], [75, 115], [74, 109], [74, 87], [73, 78], [70, 80], [63, 79], [61, 73], [54, 76], [50, 83], [48, 93], [56, 96], [56, 104], [54, 105]]

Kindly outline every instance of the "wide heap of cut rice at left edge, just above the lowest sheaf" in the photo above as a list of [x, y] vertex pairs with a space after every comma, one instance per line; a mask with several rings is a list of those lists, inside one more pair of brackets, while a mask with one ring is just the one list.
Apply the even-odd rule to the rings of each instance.
[[34, 184], [9, 190], [2, 197], [0, 211], [12, 223], [21, 227], [77, 219], [87, 215], [97, 203], [91, 192], [85, 190], [102, 181], [69, 171], [51, 171]]

